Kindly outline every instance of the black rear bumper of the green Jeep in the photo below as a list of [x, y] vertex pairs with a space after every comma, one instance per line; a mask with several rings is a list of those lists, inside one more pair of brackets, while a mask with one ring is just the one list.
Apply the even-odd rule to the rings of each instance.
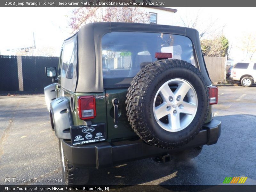
[[70, 141], [61, 140], [63, 150], [68, 161], [77, 167], [111, 167], [112, 164], [160, 156], [166, 153], [182, 151], [201, 145], [212, 145], [217, 143], [220, 137], [221, 122], [212, 119], [205, 124], [203, 130], [198, 133], [194, 140], [180, 148], [161, 149], [150, 146], [142, 140], [123, 140], [116, 142], [100, 142], [78, 147], [71, 146]]

